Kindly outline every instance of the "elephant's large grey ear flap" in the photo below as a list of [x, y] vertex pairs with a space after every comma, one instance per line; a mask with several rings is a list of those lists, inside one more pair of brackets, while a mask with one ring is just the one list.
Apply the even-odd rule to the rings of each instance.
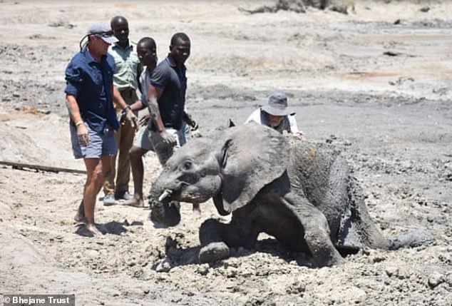
[[284, 136], [256, 123], [229, 128], [225, 135], [217, 155], [222, 194], [214, 200], [217, 209], [230, 213], [250, 203], [264, 185], [284, 173], [290, 149]]

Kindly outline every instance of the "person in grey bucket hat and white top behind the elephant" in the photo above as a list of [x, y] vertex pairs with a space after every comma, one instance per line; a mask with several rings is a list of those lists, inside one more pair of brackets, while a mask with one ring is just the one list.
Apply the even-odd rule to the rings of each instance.
[[268, 99], [268, 103], [254, 111], [245, 123], [256, 122], [264, 126], [274, 128], [279, 133], [289, 133], [304, 139], [302, 131], [299, 131], [295, 113], [287, 106], [287, 95], [274, 91]]

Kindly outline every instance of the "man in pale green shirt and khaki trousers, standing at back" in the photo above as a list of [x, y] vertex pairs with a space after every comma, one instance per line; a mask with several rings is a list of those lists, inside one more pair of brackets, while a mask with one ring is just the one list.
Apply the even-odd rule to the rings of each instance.
[[[111, 19], [111, 29], [118, 39], [112, 44], [109, 53], [115, 59], [115, 73], [113, 83], [125, 103], [131, 105], [138, 100], [136, 90], [139, 87], [139, 78], [143, 66], [138, 60], [136, 44], [128, 39], [128, 21], [123, 16], [115, 16]], [[120, 109], [116, 106], [118, 117]], [[136, 114], [136, 113], [135, 113]], [[118, 154], [113, 157], [111, 172], [103, 185], [105, 198], [104, 205], [113, 205], [116, 200], [128, 200], [128, 184], [130, 180], [130, 158], [129, 150], [132, 148], [135, 128], [128, 121], [120, 119], [120, 128], [116, 131], [116, 141], [118, 143]], [[116, 161], [118, 166], [116, 167]]]

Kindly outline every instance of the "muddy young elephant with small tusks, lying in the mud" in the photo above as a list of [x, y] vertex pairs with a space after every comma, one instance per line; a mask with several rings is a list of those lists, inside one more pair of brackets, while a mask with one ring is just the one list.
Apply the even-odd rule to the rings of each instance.
[[339, 250], [393, 250], [433, 241], [422, 230], [384, 238], [339, 152], [257, 124], [180, 148], [150, 190], [151, 218], [176, 225], [178, 202], [210, 198], [218, 213], [232, 213], [232, 219], [201, 225], [200, 262], [228, 257], [230, 247], [253, 248], [262, 232], [291, 250], [310, 253], [319, 266], [343, 262]]

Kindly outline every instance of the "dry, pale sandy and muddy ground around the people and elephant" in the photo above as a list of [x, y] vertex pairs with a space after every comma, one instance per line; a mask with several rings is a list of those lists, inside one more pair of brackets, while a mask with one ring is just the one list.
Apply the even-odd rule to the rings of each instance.
[[[0, 294], [75, 294], [76, 305], [451, 305], [452, 4], [356, 1], [355, 13], [244, 14], [272, 1], [0, 1], [0, 160], [83, 169], [71, 155], [63, 71], [93, 21], [130, 36], [192, 39], [188, 109], [208, 133], [286, 91], [307, 137], [337, 145], [385, 235], [436, 243], [362, 250], [339, 267], [262, 235], [255, 250], [197, 263], [212, 203], [175, 228], [104, 207], [102, 237], [76, 235], [84, 176], [0, 168]], [[426, 12], [422, 8], [428, 6]], [[425, 11], [425, 10], [424, 10]], [[396, 22], [398, 21], [398, 22]], [[391, 55], [388, 55], [391, 54]], [[146, 189], [160, 167], [145, 160]], [[131, 183], [130, 183], [131, 185]]]

